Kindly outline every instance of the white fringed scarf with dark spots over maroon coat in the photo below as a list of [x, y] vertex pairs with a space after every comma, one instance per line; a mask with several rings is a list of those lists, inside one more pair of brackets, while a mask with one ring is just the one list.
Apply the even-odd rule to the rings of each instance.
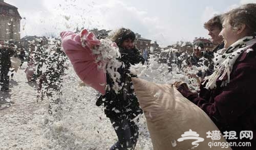
[[[237, 58], [248, 48], [250, 48], [253, 44], [256, 43], [255, 36], [246, 36], [238, 41], [234, 42], [227, 49], [218, 50], [214, 55], [215, 62], [215, 72], [210, 76], [204, 78], [205, 88], [206, 89], [215, 89], [217, 87], [216, 81], [219, 79], [222, 81], [221, 87], [224, 87], [230, 81], [230, 73], [232, 71], [232, 67], [236, 62]], [[227, 79], [223, 79], [227, 76]]]

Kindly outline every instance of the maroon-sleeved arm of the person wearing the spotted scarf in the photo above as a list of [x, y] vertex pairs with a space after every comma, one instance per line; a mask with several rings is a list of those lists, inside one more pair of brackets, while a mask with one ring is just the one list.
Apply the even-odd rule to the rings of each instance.
[[256, 69], [254, 64], [241, 63], [234, 70], [233, 78], [223, 91], [209, 102], [190, 91], [178, 89], [181, 94], [198, 105], [213, 121], [236, 122], [247, 109], [255, 104]]

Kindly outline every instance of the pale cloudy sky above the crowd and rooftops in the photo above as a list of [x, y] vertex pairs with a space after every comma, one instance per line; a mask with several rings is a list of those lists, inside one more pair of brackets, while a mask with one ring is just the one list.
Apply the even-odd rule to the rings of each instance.
[[256, 0], [4, 0], [22, 16], [21, 37], [59, 36], [61, 31], [129, 28], [152, 42], [168, 46], [195, 37], [210, 38], [203, 24]]

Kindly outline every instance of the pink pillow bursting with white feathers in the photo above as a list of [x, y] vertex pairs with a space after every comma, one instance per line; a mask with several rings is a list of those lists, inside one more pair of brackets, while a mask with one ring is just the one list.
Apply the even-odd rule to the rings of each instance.
[[[85, 38], [86, 45], [82, 47], [81, 37]], [[87, 85], [105, 94], [106, 75], [104, 69], [99, 69], [98, 63], [95, 62], [95, 56], [90, 49], [94, 45], [99, 45], [100, 41], [95, 38], [93, 33], [83, 30], [81, 34], [74, 32], [61, 32], [60, 33], [62, 47], [69, 57], [74, 70], [78, 77]]]

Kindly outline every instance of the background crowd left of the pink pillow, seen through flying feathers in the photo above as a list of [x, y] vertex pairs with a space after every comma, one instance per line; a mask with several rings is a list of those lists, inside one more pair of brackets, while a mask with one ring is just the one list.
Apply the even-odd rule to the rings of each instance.
[[[13, 43], [0, 41], [0, 68], [1, 68], [1, 91], [11, 92], [9, 80], [14, 75], [12, 59], [20, 60], [19, 68], [22, 68], [24, 61], [27, 59], [27, 68], [25, 70], [28, 82], [34, 82], [37, 87], [37, 98], [44, 99], [46, 95], [50, 99], [49, 112], [52, 114], [52, 103], [58, 103], [58, 95], [61, 93], [62, 77], [67, 69], [66, 54], [61, 51], [60, 41], [54, 40], [52, 44], [44, 44], [40, 40], [38, 44], [29, 45], [29, 55], [26, 58], [25, 49], [19, 49]], [[15, 64], [17, 65], [17, 64]], [[26, 78], [26, 76], [24, 76]], [[56, 111], [56, 110], [54, 110]]]

